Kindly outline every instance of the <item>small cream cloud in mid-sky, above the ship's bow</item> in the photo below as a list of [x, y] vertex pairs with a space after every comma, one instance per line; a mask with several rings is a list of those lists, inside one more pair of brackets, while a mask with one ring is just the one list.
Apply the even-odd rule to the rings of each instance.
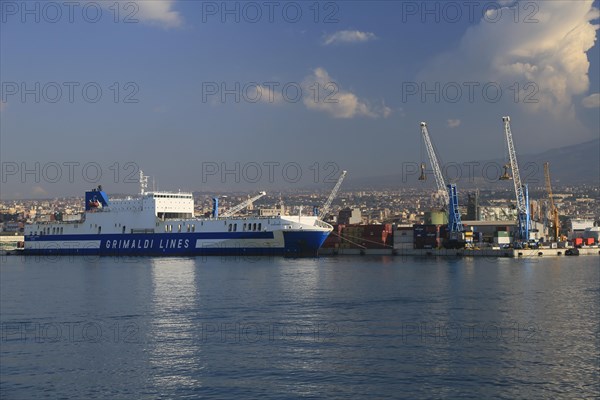
[[343, 90], [324, 68], [316, 68], [302, 82], [303, 102], [309, 110], [323, 111], [335, 118], [387, 117], [392, 110], [382, 103], [372, 106], [354, 93]]

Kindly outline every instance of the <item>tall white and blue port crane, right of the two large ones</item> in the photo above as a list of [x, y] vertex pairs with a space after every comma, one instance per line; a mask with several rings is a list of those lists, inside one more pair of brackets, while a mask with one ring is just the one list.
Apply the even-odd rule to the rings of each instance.
[[515, 145], [513, 143], [512, 132], [510, 129], [510, 117], [502, 117], [504, 123], [504, 135], [506, 137], [506, 144], [508, 146], [508, 157], [510, 161], [510, 169], [512, 170], [513, 176], [511, 177], [508, 173], [500, 176], [500, 180], [512, 179], [515, 186], [515, 196], [517, 200], [517, 218], [518, 218], [518, 238], [521, 242], [529, 241], [529, 192], [527, 185], [521, 183], [521, 174], [519, 173], [519, 165], [517, 163], [517, 153], [515, 151]]

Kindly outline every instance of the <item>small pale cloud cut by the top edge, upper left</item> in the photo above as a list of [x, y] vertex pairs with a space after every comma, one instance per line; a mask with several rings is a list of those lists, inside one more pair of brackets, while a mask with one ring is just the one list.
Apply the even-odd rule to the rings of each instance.
[[[121, 3], [120, 17], [126, 17], [146, 22], [163, 28], [178, 28], [183, 25], [183, 19], [178, 11], [173, 10], [174, 0], [119, 0]], [[134, 9], [130, 3], [135, 3], [137, 9]], [[102, 2], [107, 7], [114, 2]]]

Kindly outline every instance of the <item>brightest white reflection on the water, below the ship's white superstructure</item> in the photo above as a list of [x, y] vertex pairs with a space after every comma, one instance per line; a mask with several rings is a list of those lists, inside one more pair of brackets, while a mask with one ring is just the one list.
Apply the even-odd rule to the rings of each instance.
[[201, 385], [200, 332], [194, 259], [152, 260], [151, 385], [159, 393]]

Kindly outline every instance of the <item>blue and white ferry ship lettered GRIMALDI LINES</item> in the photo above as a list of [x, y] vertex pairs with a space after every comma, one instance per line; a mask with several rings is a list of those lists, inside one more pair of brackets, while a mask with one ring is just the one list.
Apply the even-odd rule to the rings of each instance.
[[[264, 192], [262, 193], [264, 195]], [[333, 227], [317, 216], [194, 217], [191, 193], [146, 192], [110, 200], [99, 186], [85, 193], [79, 221], [25, 226], [25, 254], [316, 256]]]

